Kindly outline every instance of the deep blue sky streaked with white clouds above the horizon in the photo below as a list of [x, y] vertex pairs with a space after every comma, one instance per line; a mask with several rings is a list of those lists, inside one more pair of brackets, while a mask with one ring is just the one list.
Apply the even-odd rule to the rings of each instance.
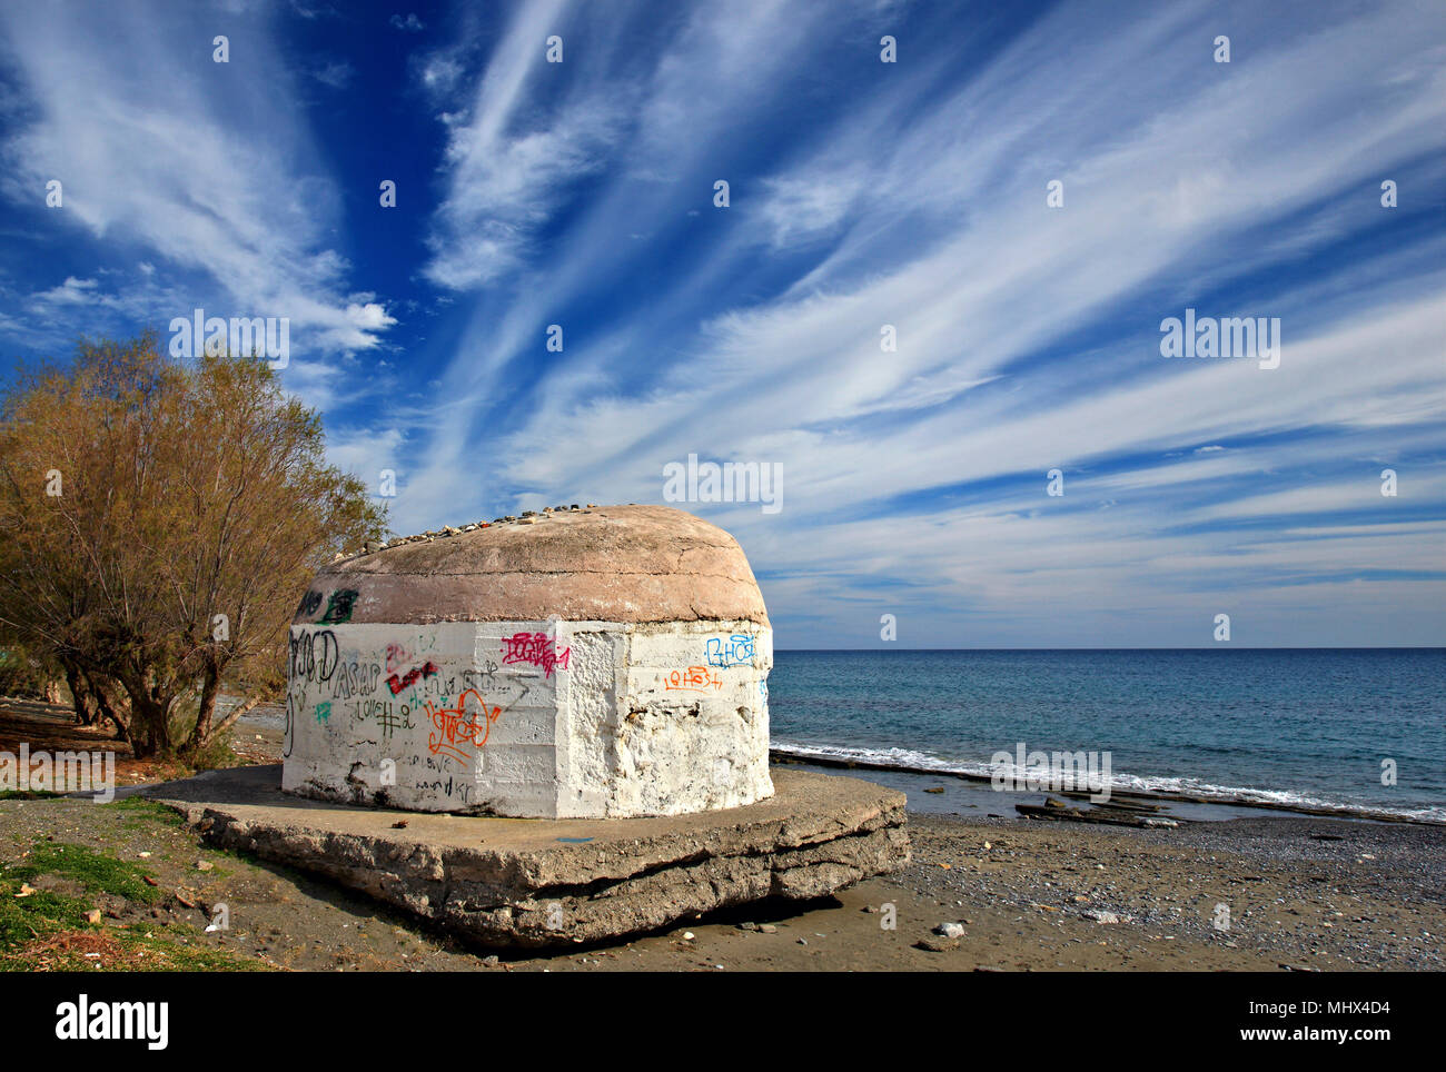
[[1446, 643], [1439, 3], [4, 4], [0, 153], [7, 363], [288, 316], [398, 532], [697, 454], [779, 647]]

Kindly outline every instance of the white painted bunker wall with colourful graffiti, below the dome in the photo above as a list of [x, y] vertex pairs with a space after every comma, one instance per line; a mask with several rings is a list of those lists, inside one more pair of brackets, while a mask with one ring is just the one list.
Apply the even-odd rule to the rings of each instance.
[[[536, 633], [532, 650], [512, 641]], [[291, 640], [286, 792], [536, 818], [774, 792], [772, 631], [753, 623], [294, 626]]]

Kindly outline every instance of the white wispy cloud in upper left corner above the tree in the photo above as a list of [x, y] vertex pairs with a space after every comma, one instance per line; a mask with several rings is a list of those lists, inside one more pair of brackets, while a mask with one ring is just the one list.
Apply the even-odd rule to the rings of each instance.
[[[231, 62], [218, 64], [217, 19], [168, 13], [0, 12], [7, 68], [27, 101], [3, 146], [6, 196], [143, 253], [191, 290], [184, 308], [149, 309], [153, 321], [210, 303], [220, 315], [289, 316], [302, 344], [375, 347], [388, 318], [346, 301], [351, 267], [331, 244], [337, 194], [266, 22], [228, 17]], [[341, 66], [325, 71], [335, 79]], [[59, 209], [45, 208], [51, 181], [62, 183]]]

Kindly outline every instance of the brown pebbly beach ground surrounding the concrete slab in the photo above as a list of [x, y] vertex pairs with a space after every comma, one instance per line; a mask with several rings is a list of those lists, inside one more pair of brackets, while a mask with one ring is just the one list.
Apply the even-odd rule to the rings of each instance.
[[[52, 744], [65, 738], [61, 715], [30, 708], [25, 718], [51, 724]], [[250, 761], [273, 761], [278, 744], [266, 725], [237, 732]], [[912, 799], [938, 808], [934, 795]], [[56, 845], [139, 868], [150, 891], [136, 900], [88, 889], [85, 874], [64, 868], [27, 877], [33, 890], [93, 903], [100, 923], [30, 941], [9, 933], [4, 955], [7, 967], [29, 969], [181, 967], [198, 955], [215, 958], [213, 968], [294, 971], [1443, 967], [1439, 826], [1262, 815], [1135, 829], [915, 811], [910, 838], [912, 861], [902, 871], [803, 907], [765, 903], [630, 942], [499, 955], [322, 880], [215, 851], [159, 805], [4, 799], [0, 884], [12, 897], [20, 889], [13, 876], [38, 857], [54, 858]], [[208, 933], [218, 904], [228, 928]], [[962, 932], [936, 935], [941, 923]]]

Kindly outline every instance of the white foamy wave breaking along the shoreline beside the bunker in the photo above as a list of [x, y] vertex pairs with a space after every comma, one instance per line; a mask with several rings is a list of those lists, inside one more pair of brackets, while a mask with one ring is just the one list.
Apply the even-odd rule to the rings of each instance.
[[[895, 770], [908, 774], [954, 774], [977, 782], [993, 776], [989, 763], [972, 760], [946, 760], [914, 748], [855, 748], [849, 745], [820, 745], [794, 741], [772, 741], [769, 750], [787, 758], [817, 761], [829, 766], [853, 764], [872, 770]], [[1012, 771], [1012, 764], [1009, 767]], [[1024, 771], [1019, 771], [1024, 777]], [[1111, 792], [1139, 793], [1145, 796], [1174, 797], [1183, 800], [1207, 800], [1209, 803], [1238, 805], [1244, 808], [1270, 808], [1333, 813], [1362, 819], [1392, 819], [1446, 825], [1446, 806], [1387, 808], [1345, 800], [1327, 800], [1287, 789], [1254, 789], [1249, 786], [1220, 786], [1196, 777], [1139, 776], [1111, 773]]]

